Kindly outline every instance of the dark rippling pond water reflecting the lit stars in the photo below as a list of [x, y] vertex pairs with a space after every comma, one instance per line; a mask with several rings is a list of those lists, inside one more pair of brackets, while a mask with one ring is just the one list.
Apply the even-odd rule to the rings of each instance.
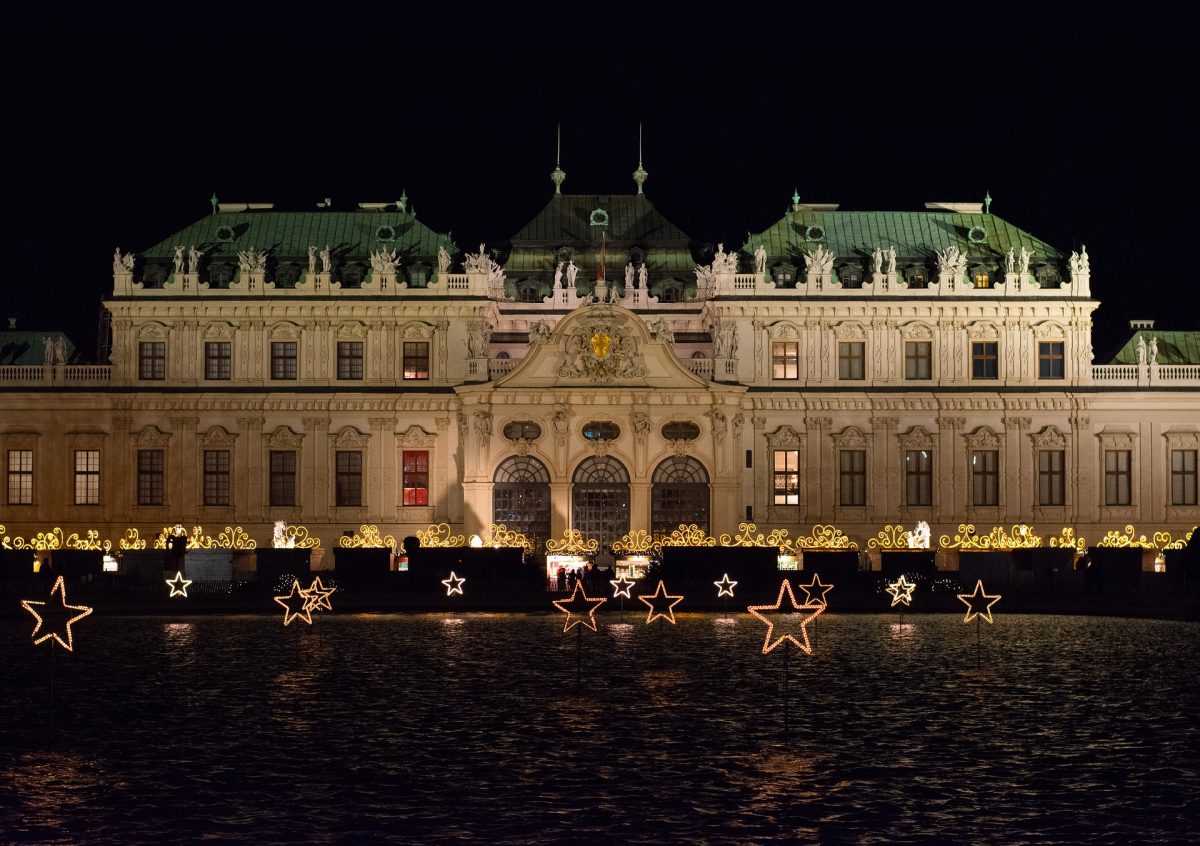
[[740, 614], [0, 625], [0, 841], [1200, 839], [1200, 626]]

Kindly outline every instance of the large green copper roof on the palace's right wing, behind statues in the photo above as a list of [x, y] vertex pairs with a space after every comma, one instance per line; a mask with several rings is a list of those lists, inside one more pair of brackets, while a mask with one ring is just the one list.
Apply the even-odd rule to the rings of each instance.
[[[824, 232], [821, 240], [810, 233], [812, 227]], [[972, 229], [982, 229], [974, 239]], [[954, 246], [972, 260], [1003, 262], [1009, 248], [1020, 253], [1025, 247], [1032, 262], [1060, 264], [1063, 254], [1045, 241], [1034, 238], [996, 215], [956, 214], [950, 211], [790, 211], [762, 233], [751, 234], [742, 247], [752, 254], [758, 244], [767, 247], [768, 263], [791, 258], [804, 266], [802, 252], [811, 252], [818, 244], [839, 259], [869, 259], [876, 247], [894, 246], [898, 260], [930, 260], [934, 252]]]

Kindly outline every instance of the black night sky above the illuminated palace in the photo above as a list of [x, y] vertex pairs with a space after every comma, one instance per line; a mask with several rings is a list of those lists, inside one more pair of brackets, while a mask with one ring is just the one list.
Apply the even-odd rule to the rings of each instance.
[[13, 22], [5, 316], [92, 349], [113, 247], [193, 222], [214, 191], [311, 209], [403, 188], [460, 246], [500, 241], [552, 192], [556, 122], [564, 190], [610, 193], [634, 188], [644, 121], [647, 193], [697, 240], [739, 245], [793, 187], [900, 210], [990, 191], [995, 214], [1087, 244], [1097, 352], [1130, 317], [1200, 328], [1180, 308], [1200, 202], [1187, 12], [406, 6]]

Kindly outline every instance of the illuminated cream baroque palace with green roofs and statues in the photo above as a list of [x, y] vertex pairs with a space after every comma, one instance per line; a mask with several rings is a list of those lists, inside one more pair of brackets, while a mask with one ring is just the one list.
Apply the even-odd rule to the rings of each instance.
[[214, 200], [118, 251], [110, 364], [47, 342], [0, 365], [0, 522], [263, 544], [282, 520], [326, 547], [503, 523], [604, 547], [679, 524], [1200, 521], [1196, 334], [1141, 325], [1094, 364], [1086, 248], [980, 204], [798, 197], [714, 248], [644, 176], [564, 194], [556, 169], [527, 226], [466, 251], [406, 199]]

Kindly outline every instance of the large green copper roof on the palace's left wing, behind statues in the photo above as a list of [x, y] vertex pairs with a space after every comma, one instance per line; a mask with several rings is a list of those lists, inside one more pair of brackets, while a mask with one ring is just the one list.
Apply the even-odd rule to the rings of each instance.
[[[391, 230], [391, 240], [380, 238], [380, 228], [385, 229], [384, 238], [389, 235], [386, 229]], [[236, 259], [239, 251], [254, 247], [271, 256], [307, 260], [310, 246], [322, 250], [326, 244], [342, 258], [366, 259], [384, 248], [408, 257], [433, 258], [439, 245], [457, 252], [446, 235], [404, 211], [248, 211], [209, 215], [143, 250], [142, 254], [146, 259], [169, 260], [176, 245], [185, 250], [194, 245], [208, 258]]]

